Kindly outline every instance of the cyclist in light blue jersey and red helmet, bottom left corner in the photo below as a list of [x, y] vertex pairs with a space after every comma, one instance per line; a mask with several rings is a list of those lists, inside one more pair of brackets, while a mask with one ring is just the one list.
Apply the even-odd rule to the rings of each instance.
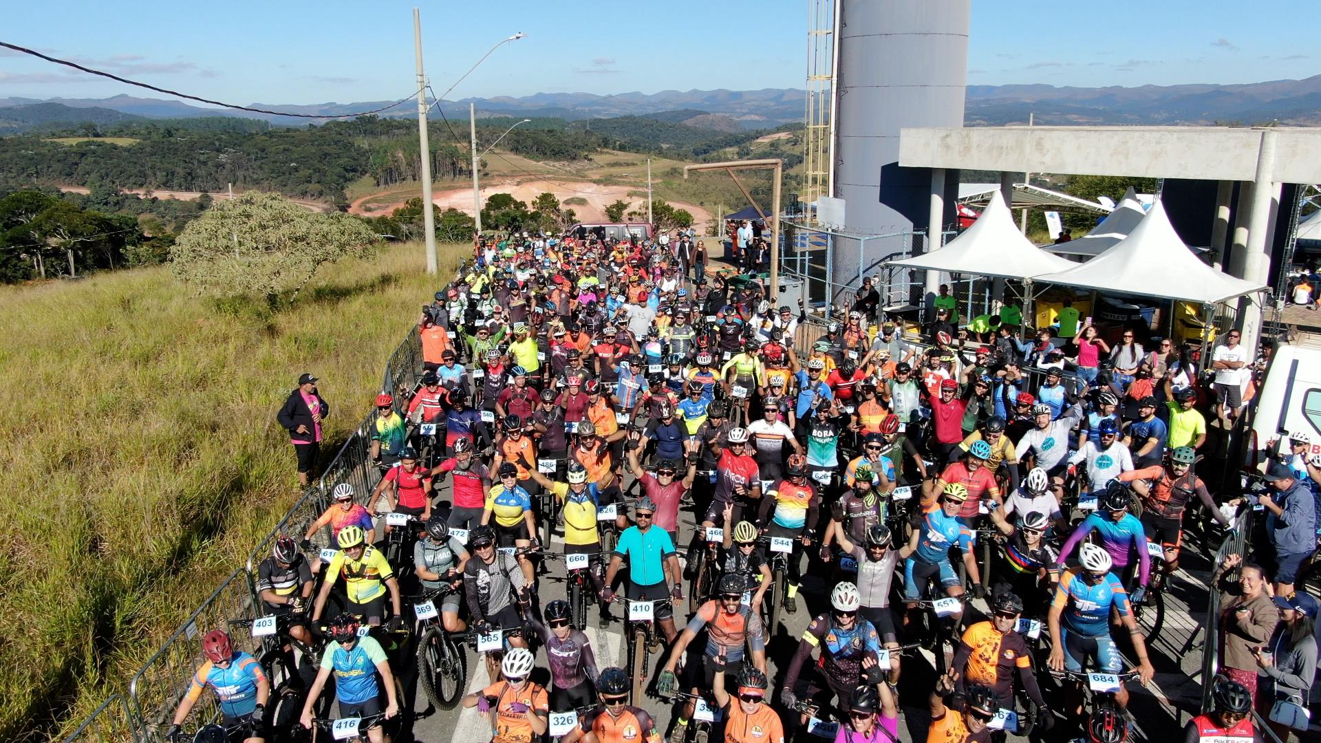
[[226, 727], [244, 726], [246, 743], [262, 743], [266, 739], [266, 702], [271, 697], [271, 682], [262, 670], [262, 664], [252, 656], [234, 649], [234, 641], [221, 631], [213, 629], [202, 637], [202, 654], [206, 661], [193, 674], [174, 719], [165, 732], [169, 740], [180, 739], [180, 726], [188, 719], [193, 706], [207, 686], [221, 699], [221, 715]]

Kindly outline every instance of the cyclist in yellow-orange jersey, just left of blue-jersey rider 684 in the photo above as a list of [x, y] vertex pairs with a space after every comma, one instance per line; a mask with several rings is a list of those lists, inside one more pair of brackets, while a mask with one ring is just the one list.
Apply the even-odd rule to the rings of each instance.
[[1040, 715], [1042, 732], [1050, 730], [1053, 718], [1041, 698], [1037, 677], [1032, 673], [1032, 650], [1022, 635], [1016, 632], [1018, 617], [1022, 616], [1022, 599], [1012, 591], [996, 594], [991, 599], [991, 619], [979, 621], [963, 632], [959, 649], [954, 652], [956, 687], [962, 691], [968, 685], [982, 685], [992, 689], [999, 697], [999, 707], [1015, 707], [1013, 677]]

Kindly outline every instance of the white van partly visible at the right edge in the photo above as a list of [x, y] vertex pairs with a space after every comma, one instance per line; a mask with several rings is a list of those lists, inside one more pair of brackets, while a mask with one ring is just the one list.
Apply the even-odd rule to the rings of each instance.
[[[1312, 453], [1321, 452], [1321, 350], [1280, 344], [1256, 393], [1247, 465], [1260, 469], [1271, 440], [1295, 431], [1306, 431]], [[1272, 453], [1280, 451], [1277, 442]]]

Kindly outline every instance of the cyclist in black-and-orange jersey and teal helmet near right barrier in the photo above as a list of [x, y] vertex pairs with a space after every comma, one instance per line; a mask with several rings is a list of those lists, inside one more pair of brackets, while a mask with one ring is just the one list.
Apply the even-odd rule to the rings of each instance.
[[1169, 453], [1169, 464], [1156, 464], [1133, 469], [1119, 476], [1129, 481], [1143, 497], [1143, 529], [1147, 538], [1165, 550], [1165, 572], [1178, 570], [1178, 547], [1184, 541], [1184, 509], [1196, 494], [1221, 526], [1229, 520], [1215, 506], [1202, 479], [1193, 473], [1197, 452], [1192, 447], [1178, 447]]

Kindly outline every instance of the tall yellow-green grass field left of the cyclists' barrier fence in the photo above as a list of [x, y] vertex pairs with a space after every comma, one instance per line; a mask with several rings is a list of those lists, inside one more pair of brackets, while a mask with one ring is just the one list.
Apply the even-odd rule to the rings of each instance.
[[280, 313], [168, 267], [0, 290], [0, 740], [71, 731], [242, 565], [297, 494], [297, 374], [333, 452], [462, 251], [441, 279], [417, 245], [325, 267]]

